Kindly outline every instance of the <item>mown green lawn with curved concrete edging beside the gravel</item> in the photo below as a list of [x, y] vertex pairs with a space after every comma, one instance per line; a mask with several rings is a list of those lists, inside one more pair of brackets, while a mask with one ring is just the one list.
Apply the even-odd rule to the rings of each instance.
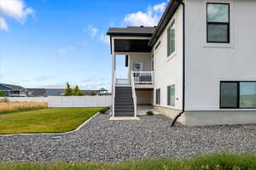
[[63, 133], [76, 129], [101, 108], [61, 108], [0, 115], [0, 134]]

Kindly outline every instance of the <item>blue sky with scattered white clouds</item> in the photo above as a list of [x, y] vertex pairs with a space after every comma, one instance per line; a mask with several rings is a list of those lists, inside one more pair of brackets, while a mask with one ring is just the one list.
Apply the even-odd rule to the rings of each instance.
[[154, 26], [165, 7], [166, 0], [0, 0], [0, 82], [110, 88], [108, 27]]

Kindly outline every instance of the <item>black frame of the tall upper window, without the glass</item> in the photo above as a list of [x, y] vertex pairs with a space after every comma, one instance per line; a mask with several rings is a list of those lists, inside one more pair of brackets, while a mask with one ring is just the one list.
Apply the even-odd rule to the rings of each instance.
[[[228, 9], [229, 9], [229, 21], [228, 22], [208, 22], [208, 4], [224, 4], [224, 5], [228, 5]], [[208, 26], [209, 25], [225, 25], [228, 26], [228, 39], [226, 42], [217, 42], [217, 41], [209, 41], [209, 37], [208, 37]], [[207, 43], [230, 43], [230, 3], [207, 3]]]

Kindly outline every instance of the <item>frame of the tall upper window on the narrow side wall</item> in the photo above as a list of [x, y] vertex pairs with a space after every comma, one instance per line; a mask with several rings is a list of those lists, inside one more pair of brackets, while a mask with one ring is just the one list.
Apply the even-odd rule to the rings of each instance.
[[[172, 56], [172, 54], [176, 53], [176, 31], [177, 31], [177, 22], [176, 22], [176, 18], [174, 17], [171, 22], [170, 22], [170, 26], [167, 27], [167, 58], [169, 58], [170, 56]], [[172, 24], [174, 23], [174, 50], [172, 51], [171, 46], [171, 37], [172, 37]]]

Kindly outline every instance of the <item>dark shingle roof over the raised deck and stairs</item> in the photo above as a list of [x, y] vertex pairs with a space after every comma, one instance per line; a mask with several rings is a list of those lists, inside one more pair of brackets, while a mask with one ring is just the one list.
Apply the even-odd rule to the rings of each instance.
[[109, 28], [108, 36], [139, 36], [151, 37], [155, 27], [148, 26], [127, 26], [125, 28]]

